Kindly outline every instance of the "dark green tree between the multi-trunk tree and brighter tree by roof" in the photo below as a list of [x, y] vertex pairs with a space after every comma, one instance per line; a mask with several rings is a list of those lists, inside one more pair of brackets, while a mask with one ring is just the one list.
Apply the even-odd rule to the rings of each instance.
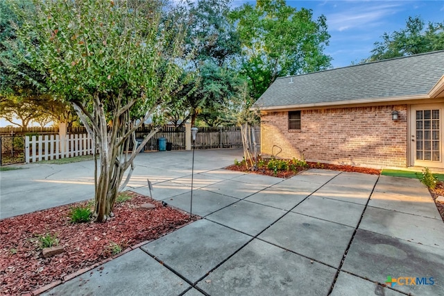
[[184, 81], [185, 88], [169, 108], [173, 121], [182, 115], [184, 121], [191, 119], [191, 125], [199, 117], [210, 125], [223, 123], [222, 110], [239, 83], [232, 64], [241, 49], [228, 13], [230, 0], [189, 1], [178, 11], [180, 21], [187, 24], [186, 49], [193, 54], [187, 72], [193, 79]]

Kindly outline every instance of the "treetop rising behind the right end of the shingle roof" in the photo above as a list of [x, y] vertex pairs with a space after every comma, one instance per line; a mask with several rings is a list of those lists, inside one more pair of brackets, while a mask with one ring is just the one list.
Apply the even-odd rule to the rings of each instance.
[[363, 62], [384, 60], [422, 54], [444, 49], [444, 22], [426, 26], [420, 17], [409, 17], [406, 27], [393, 33], [384, 33], [382, 40], [375, 42], [372, 55]]

